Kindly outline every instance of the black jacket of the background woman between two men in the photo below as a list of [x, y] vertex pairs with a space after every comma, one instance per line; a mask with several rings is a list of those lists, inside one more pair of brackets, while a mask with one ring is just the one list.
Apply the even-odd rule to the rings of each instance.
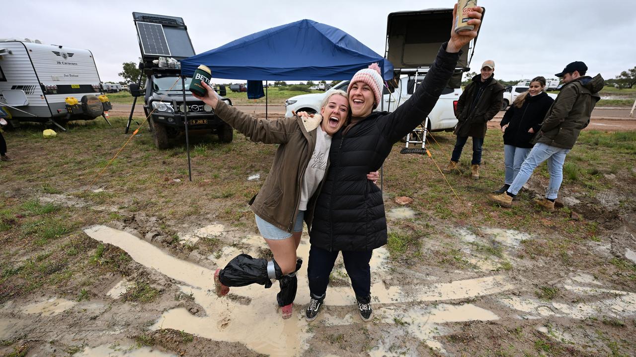
[[[548, 93], [542, 91], [534, 97], [527, 95], [520, 108], [515, 104], [511, 105], [499, 123], [501, 126], [508, 124], [504, 132], [504, 144], [532, 148], [534, 144], [530, 143], [530, 140], [534, 133], [541, 129], [541, 122], [546, 118], [546, 113], [554, 101]], [[530, 128], [534, 130], [533, 133], [528, 132]]]

